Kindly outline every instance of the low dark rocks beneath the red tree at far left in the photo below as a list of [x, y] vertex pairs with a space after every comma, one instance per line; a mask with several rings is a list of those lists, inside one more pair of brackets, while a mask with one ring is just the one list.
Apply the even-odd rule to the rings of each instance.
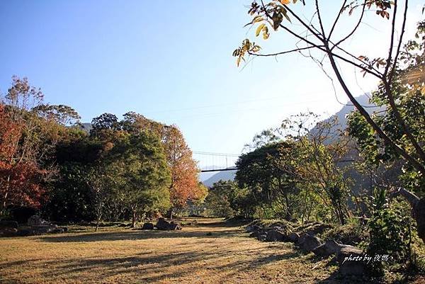
[[18, 225], [18, 222], [11, 220], [0, 221], [0, 237], [34, 236], [64, 232], [68, 232], [68, 227], [58, 227], [55, 224], [42, 220], [39, 216], [30, 217], [27, 225]]

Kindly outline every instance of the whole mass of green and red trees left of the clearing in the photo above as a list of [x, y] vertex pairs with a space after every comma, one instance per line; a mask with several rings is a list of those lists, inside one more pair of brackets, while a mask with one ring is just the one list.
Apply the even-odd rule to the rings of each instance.
[[[69, 106], [43, 103], [13, 77], [0, 103], [0, 215], [37, 208], [53, 220], [137, 220], [205, 198], [180, 130], [137, 113], [94, 118], [87, 133]], [[97, 229], [97, 227], [96, 227]]]

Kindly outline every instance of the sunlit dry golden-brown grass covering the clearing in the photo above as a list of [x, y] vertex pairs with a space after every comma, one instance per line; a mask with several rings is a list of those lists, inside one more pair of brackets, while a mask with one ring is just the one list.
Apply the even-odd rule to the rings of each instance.
[[180, 232], [103, 228], [3, 238], [0, 283], [361, 283], [342, 280], [335, 266], [291, 244], [246, 236], [242, 227], [201, 220]]

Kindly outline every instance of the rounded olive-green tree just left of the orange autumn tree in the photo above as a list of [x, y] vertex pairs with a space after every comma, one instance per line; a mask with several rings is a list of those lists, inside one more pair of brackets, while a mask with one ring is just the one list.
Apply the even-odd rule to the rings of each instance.
[[108, 153], [108, 171], [120, 203], [132, 212], [132, 226], [149, 212], [169, 208], [170, 172], [159, 138], [149, 132], [124, 134]]

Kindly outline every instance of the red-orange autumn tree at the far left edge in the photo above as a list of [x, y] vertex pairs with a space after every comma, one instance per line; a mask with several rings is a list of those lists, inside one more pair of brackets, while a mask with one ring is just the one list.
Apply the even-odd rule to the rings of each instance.
[[[66, 130], [57, 120], [72, 108], [62, 106], [47, 118], [40, 89], [26, 78], [12, 78], [0, 103], [0, 214], [9, 206], [40, 208], [47, 181], [55, 174], [52, 154]], [[54, 106], [52, 106], [54, 107]]]

